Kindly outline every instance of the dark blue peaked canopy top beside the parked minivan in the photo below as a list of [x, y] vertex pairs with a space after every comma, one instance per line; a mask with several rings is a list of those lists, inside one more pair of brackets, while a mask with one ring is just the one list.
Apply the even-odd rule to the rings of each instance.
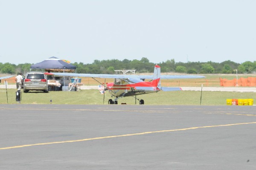
[[76, 69], [76, 66], [66, 63], [56, 57], [50, 57], [40, 63], [30, 66], [31, 69]]

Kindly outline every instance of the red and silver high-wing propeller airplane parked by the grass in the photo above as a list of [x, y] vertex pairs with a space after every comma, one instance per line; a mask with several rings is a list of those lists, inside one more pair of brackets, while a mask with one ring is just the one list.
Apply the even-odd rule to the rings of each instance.
[[[117, 104], [117, 100], [126, 96], [143, 95], [152, 92], [163, 91], [177, 91], [181, 90], [180, 87], [162, 87], [160, 79], [174, 79], [174, 78], [205, 78], [201, 75], [160, 75], [160, 66], [154, 66], [154, 75], [109, 75], [109, 74], [79, 74], [79, 73], [44, 73], [46, 75], [53, 76], [73, 76], [73, 77], [91, 77], [99, 84], [99, 90], [102, 94], [108, 90], [112, 97], [115, 99], [109, 99], [108, 104]], [[96, 78], [113, 78], [113, 83], [107, 85], [100, 83]], [[143, 81], [143, 80], [150, 81]], [[137, 99], [140, 104], [144, 104], [143, 99]]]

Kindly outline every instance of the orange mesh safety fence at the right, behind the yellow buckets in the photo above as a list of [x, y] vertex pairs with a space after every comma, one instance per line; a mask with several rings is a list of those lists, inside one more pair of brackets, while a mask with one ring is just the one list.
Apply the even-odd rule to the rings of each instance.
[[[238, 86], [256, 86], [256, 78], [248, 77], [248, 78], [239, 78], [237, 80]], [[226, 78], [220, 78], [220, 86], [236, 86], [236, 78], [233, 80], [227, 80]]]

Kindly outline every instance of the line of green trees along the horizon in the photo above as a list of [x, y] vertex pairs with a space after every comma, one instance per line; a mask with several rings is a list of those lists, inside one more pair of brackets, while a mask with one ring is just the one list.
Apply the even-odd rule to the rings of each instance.
[[[141, 60], [94, 60], [93, 63], [71, 63], [76, 66], [76, 73], [91, 73], [91, 74], [114, 74], [114, 70], [135, 69], [136, 73], [152, 73], [154, 65], [148, 58]], [[0, 73], [2, 74], [17, 74], [29, 72], [30, 63], [12, 64], [0, 63]], [[233, 74], [236, 73], [254, 73], [256, 72], [256, 61], [245, 61], [244, 63], [235, 63], [233, 61], [224, 61], [221, 63], [208, 62], [175, 62], [174, 59], [158, 63], [161, 66], [161, 72], [178, 72], [187, 74]]]

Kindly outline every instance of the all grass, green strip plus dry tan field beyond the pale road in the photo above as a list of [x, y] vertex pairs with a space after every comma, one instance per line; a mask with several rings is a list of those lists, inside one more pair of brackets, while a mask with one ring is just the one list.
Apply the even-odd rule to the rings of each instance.
[[[163, 73], [164, 74], [164, 73]], [[162, 86], [196, 86], [201, 87], [219, 87], [219, 78], [227, 78], [232, 80], [236, 75], [205, 75], [206, 78], [201, 79], [171, 79], [161, 80]], [[256, 77], [255, 75], [239, 75], [241, 77]], [[105, 79], [98, 79], [99, 82], [104, 82]], [[112, 79], [106, 79], [105, 82], [112, 82]], [[84, 85], [98, 85], [92, 78], [81, 78]], [[8, 79], [9, 84], [15, 84], [14, 78]], [[0, 89], [0, 104], [7, 103], [7, 96], [5, 89]], [[4, 91], [4, 92], [3, 92]], [[16, 92], [17, 89], [8, 89], [8, 103], [17, 104]], [[21, 104], [103, 104], [103, 95], [99, 94], [99, 90], [90, 89], [78, 92], [62, 92], [50, 91], [49, 93], [43, 92], [28, 92], [23, 93], [21, 90]], [[104, 104], [108, 104], [108, 99], [111, 95], [107, 92], [105, 94]], [[252, 98], [256, 99], [254, 92], [210, 92], [203, 91], [201, 98], [201, 91], [176, 91], [176, 92], [157, 92], [146, 95], [137, 96], [143, 99], [147, 105], [226, 105], [226, 99], [233, 98]], [[114, 99], [114, 98], [112, 98]], [[120, 98], [118, 103], [135, 104], [134, 97]], [[136, 101], [139, 104], [139, 101]]]

